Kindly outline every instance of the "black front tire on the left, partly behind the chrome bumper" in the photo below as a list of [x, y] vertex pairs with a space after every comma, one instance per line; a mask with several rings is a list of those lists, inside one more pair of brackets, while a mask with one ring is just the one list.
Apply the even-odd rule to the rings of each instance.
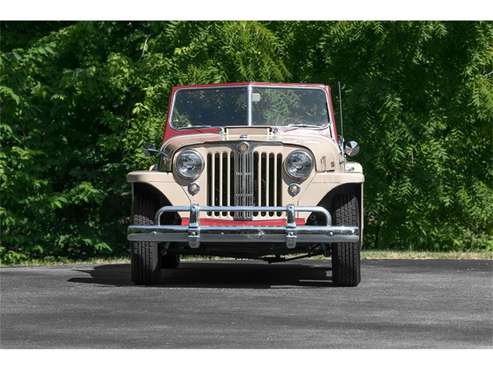
[[[133, 204], [132, 223], [153, 225], [158, 205], [151, 199], [136, 195]], [[160, 275], [160, 253], [158, 243], [131, 242], [132, 281], [137, 285], [157, 283]]]

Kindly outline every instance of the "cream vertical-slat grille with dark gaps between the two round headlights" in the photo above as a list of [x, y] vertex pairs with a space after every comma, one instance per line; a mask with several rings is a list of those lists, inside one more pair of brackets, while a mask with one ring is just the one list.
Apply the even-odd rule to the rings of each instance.
[[[281, 206], [282, 154], [221, 151], [207, 155], [207, 204], [211, 206]], [[280, 212], [208, 212], [209, 216], [249, 220]]]

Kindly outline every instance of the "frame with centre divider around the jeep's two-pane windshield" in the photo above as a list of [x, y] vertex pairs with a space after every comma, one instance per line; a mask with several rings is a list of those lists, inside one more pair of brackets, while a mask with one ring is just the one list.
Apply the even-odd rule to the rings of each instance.
[[[323, 85], [316, 85], [316, 84], [290, 84], [290, 83], [284, 83], [284, 84], [270, 84], [270, 83], [229, 83], [229, 84], [210, 84], [210, 85], [190, 85], [190, 86], [175, 86], [173, 88], [173, 94], [171, 98], [171, 107], [169, 111], [169, 119], [168, 119], [168, 126], [172, 128], [173, 130], [177, 131], [184, 131], [184, 130], [199, 130], [199, 129], [204, 129], [204, 127], [200, 126], [189, 126], [189, 127], [176, 127], [173, 125], [173, 113], [175, 109], [175, 100], [176, 100], [176, 95], [178, 92], [182, 90], [205, 90], [205, 89], [231, 89], [231, 88], [239, 88], [239, 87], [244, 87], [247, 89], [247, 124], [245, 125], [227, 125], [227, 126], [212, 126], [212, 127], [207, 127], [207, 128], [226, 128], [226, 127], [279, 127], [279, 128], [308, 128], [306, 126], [300, 125], [292, 125], [292, 126], [284, 126], [284, 125], [254, 125], [252, 124], [252, 89], [253, 88], [274, 88], [274, 89], [300, 89], [300, 90], [320, 90], [323, 92], [324, 97], [325, 97], [325, 108], [327, 109], [327, 123], [317, 126], [317, 127], [309, 127], [310, 129], [315, 129], [315, 130], [325, 130], [325, 129], [330, 129], [333, 125], [332, 123], [332, 107], [331, 104], [329, 103], [329, 95], [327, 92], [327, 89]], [[332, 131], [332, 130], [331, 130]], [[332, 132], [331, 132], [332, 134]]]

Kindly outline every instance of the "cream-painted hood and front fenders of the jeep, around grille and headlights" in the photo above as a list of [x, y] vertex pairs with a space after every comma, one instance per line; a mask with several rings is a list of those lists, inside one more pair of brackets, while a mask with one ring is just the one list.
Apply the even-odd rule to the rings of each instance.
[[[183, 183], [172, 171], [175, 155], [183, 149], [198, 151], [203, 158], [209, 153], [224, 153], [230, 150], [234, 143], [246, 141], [254, 143], [259, 152], [281, 153], [283, 158], [293, 150], [305, 149], [314, 158], [314, 168], [311, 175], [299, 184], [300, 192], [291, 196], [288, 186], [291, 181], [283, 176], [282, 200], [283, 205], [294, 204], [296, 206], [318, 205], [322, 199], [338, 187], [354, 184], [359, 186], [360, 214], [363, 218], [363, 182], [362, 167], [357, 162], [346, 161], [339, 146], [331, 137], [321, 135], [319, 129], [292, 129], [272, 130], [267, 127], [234, 127], [225, 128], [220, 133], [203, 133], [192, 135], [174, 136], [164, 142], [161, 151], [166, 158], [161, 161], [160, 168], [150, 171], [130, 172], [127, 180], [131, 184], [148, 184], [162, 194], [170, 205], [206, 204], [206, 188], [208, 169], [204, 169], [199, 178], [194, 182], [199, 185], [200, 191], [192, 195], [187, 189], [188, 184]], [[327, 132], [325, 130], [324, 132]], [[159, 170], [158, 170], [159, 169]], [[226, 205], [226, 204], [221, 204]], [[185, 214], [180, 214], [186, 217]], [[231, 216], [212, 215], [210, 218], [232, 219]], [[306, 220], [307, 213], [300, 212], [297, 217]], [[253, 219], [272, 218], [268, 216], [254, 216]], [[362, 235], [361, 220], [360, 236]]]

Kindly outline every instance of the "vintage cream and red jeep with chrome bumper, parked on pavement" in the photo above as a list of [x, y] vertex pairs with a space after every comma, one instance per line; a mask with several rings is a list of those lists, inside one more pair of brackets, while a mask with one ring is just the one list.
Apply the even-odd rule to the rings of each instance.
[[180, 255], [323, 254], [335, 284], [360, 282], [364, 176], [346, 159], [359, 148], [338, 138], [328, 86], [176, 86], [162, 146], [145, 150], [156, 165], [128, 174], [136, 284]]

